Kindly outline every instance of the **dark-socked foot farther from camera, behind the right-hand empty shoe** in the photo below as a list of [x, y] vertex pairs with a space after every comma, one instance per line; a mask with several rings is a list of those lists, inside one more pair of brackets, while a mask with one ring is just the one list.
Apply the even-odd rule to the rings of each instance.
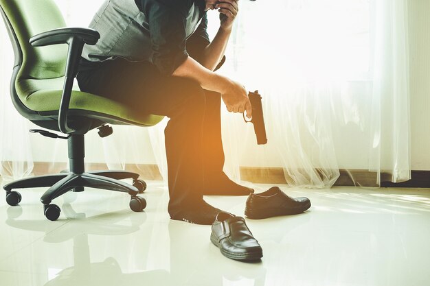
[[223, 173], [220, 178], [205, 180], [203, 195], [249, 195], [254, 190], [236, 184]]

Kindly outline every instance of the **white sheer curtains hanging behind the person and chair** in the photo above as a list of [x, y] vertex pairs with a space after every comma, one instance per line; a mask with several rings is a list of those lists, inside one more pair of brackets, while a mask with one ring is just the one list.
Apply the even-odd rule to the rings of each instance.
[[[56, 2], [68, 25], [86, 26], [103, 0]], [[218, 12], [209, 15], [214, 35]], [[256, 145], [251, 124], [223, 107], [227, 174], [240, 180], [240, 167], [257, 167], [262, 176], [280, 167], [300, 187], [330, 187], [339, 169], [409, 179], [407, 45], [407, 0], [241, 0], [219, 72], [260, 91], [269, 143]], [[33, 160], [66, 162], [64, 142], [30, 136], [31, 123], [10, 103], [12, 49], [3, 26], [0, 54], [1, 176], [27, 176]], [[156, 163], [166, 180], [164, 126], [115, 126], [106, 139], [90, 132], [87, 161], [111, 169]], [[56, 152], [42, 157], [39, 150]]]

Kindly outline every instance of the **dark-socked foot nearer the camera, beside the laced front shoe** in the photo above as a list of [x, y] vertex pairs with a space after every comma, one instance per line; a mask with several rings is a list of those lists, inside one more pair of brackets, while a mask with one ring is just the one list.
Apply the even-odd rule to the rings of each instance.
[[219, 208], [215, 208], [202, 200], [199, 204], [184, 207], [176, 212], [170, 212], [170, 218], [189, 222], [190, 224], [204, 224], [210, 226], [215, 221], [216, 215], [220, 212], [221, 210]]

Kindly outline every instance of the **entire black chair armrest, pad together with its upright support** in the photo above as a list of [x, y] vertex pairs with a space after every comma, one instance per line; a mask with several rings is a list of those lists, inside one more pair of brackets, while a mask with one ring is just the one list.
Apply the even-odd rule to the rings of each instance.
[[69, 113], [69, 104], [73, 81], [78, 74], [80, 56], [84, 45], [95, 45], [100, 38], [100, 34], [95, 29], [89, 28], [60, 28], [52, 31], [43, 32], [32, 36], [30, 44], [33, 47], [43, 47], [47, 45], [67, 44], [67, 62], [65, 70], [65, 82], [63, 86], [63, 95], [61, 95], [60, 108], [58, 110], [58, 128], [65, 134], [81, 132], [71, 128], [67, 123], [67, 114]]

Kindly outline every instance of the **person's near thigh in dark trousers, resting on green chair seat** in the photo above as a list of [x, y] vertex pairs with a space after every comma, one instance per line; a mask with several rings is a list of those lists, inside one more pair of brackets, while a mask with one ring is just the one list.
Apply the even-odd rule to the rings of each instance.
[[[78, 75], [82, 91], [111, 98], [155, 115], [170, 114], [201, 100], [203, 89], [193, 80], [161, 75], [150, 62], [106, 60], [100, 68]], [[195, 106], [195, 108], [201, 108]]]

